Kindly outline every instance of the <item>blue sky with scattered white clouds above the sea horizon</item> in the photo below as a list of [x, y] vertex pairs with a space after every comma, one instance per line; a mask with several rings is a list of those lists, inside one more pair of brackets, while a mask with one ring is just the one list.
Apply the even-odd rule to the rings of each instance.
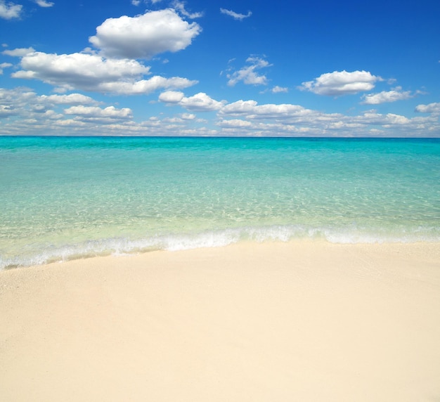
[[0, 135], [440, 137], [438, 0], [0, 0]]

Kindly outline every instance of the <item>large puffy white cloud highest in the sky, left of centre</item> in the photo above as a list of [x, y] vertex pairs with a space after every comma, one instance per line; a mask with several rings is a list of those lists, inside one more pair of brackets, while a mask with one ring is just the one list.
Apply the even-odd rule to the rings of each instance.
[[186, 48], [201, 30], [200, 25], [182, 20], [174, 9], [168, 8], [136, 17], [108, 18], [89, 41], [104, 56], [152, 58], [158, 53]]

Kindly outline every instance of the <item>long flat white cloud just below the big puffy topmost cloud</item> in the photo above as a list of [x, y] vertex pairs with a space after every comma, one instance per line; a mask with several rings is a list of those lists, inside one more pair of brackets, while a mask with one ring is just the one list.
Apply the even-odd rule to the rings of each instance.
[[87, 53], [27, 53], [20, 65], [22, 70], [13, 73], [12, 77], [40, 79], [64, 90], [135, 95], [157, 89], [183, 89], [196, 83], [181, 77], [141, 79], [150, 74], [150, 67], [136, 60], [105, 59]]

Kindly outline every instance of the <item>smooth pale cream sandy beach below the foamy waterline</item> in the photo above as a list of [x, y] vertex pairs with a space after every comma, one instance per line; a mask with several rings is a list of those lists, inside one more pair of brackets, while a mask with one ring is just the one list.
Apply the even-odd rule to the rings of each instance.
[[1, 401], [440, 401], [440, 245], [266, 242], [0, 272]]

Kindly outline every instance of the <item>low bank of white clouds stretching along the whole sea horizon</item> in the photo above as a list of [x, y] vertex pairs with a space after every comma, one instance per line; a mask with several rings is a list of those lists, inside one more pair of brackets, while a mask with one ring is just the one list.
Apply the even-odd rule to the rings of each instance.
[[[289, 103], [259, 104], [238, 100], [226, 104], [206, 93], [186, 97], [181, 91], [165, 91], [162, 102], [181, 105], [189, 112], [164, 118], [133, 119], [129, 108], [98, 107], [81, 93], [39, 96], [26, 88], [0, 88], [0, 131], [2, 134], [87, 135], [200, 135], [200, 136], [439, 136], [440, 103], [418, 105], [429, 115], [407, 117], [368, 110], [361, 115], [325, 113]], [[107, 106], [107, 107], [106, 107]], [[220, 108], [220, 109], [219, 109]], [[196, 112], [218, 110], [217, 129], [196, 117]], [[19, 118], [17, 118], [19, 117]], [[206, 124], [206, 125], [205, 125]]]

